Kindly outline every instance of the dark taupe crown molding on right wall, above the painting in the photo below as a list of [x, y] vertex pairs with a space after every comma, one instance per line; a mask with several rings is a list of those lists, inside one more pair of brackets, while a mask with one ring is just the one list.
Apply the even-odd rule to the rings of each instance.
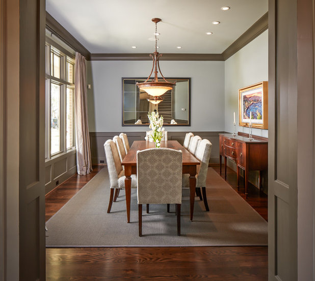
[[237, 40], [228, 46], [223, 52], [223, 59], [226, 61], [234, 53], [242, 49], [257, 36], [268, 29], [268, 12], [259, 18], [247, 31], [245, 31]]

